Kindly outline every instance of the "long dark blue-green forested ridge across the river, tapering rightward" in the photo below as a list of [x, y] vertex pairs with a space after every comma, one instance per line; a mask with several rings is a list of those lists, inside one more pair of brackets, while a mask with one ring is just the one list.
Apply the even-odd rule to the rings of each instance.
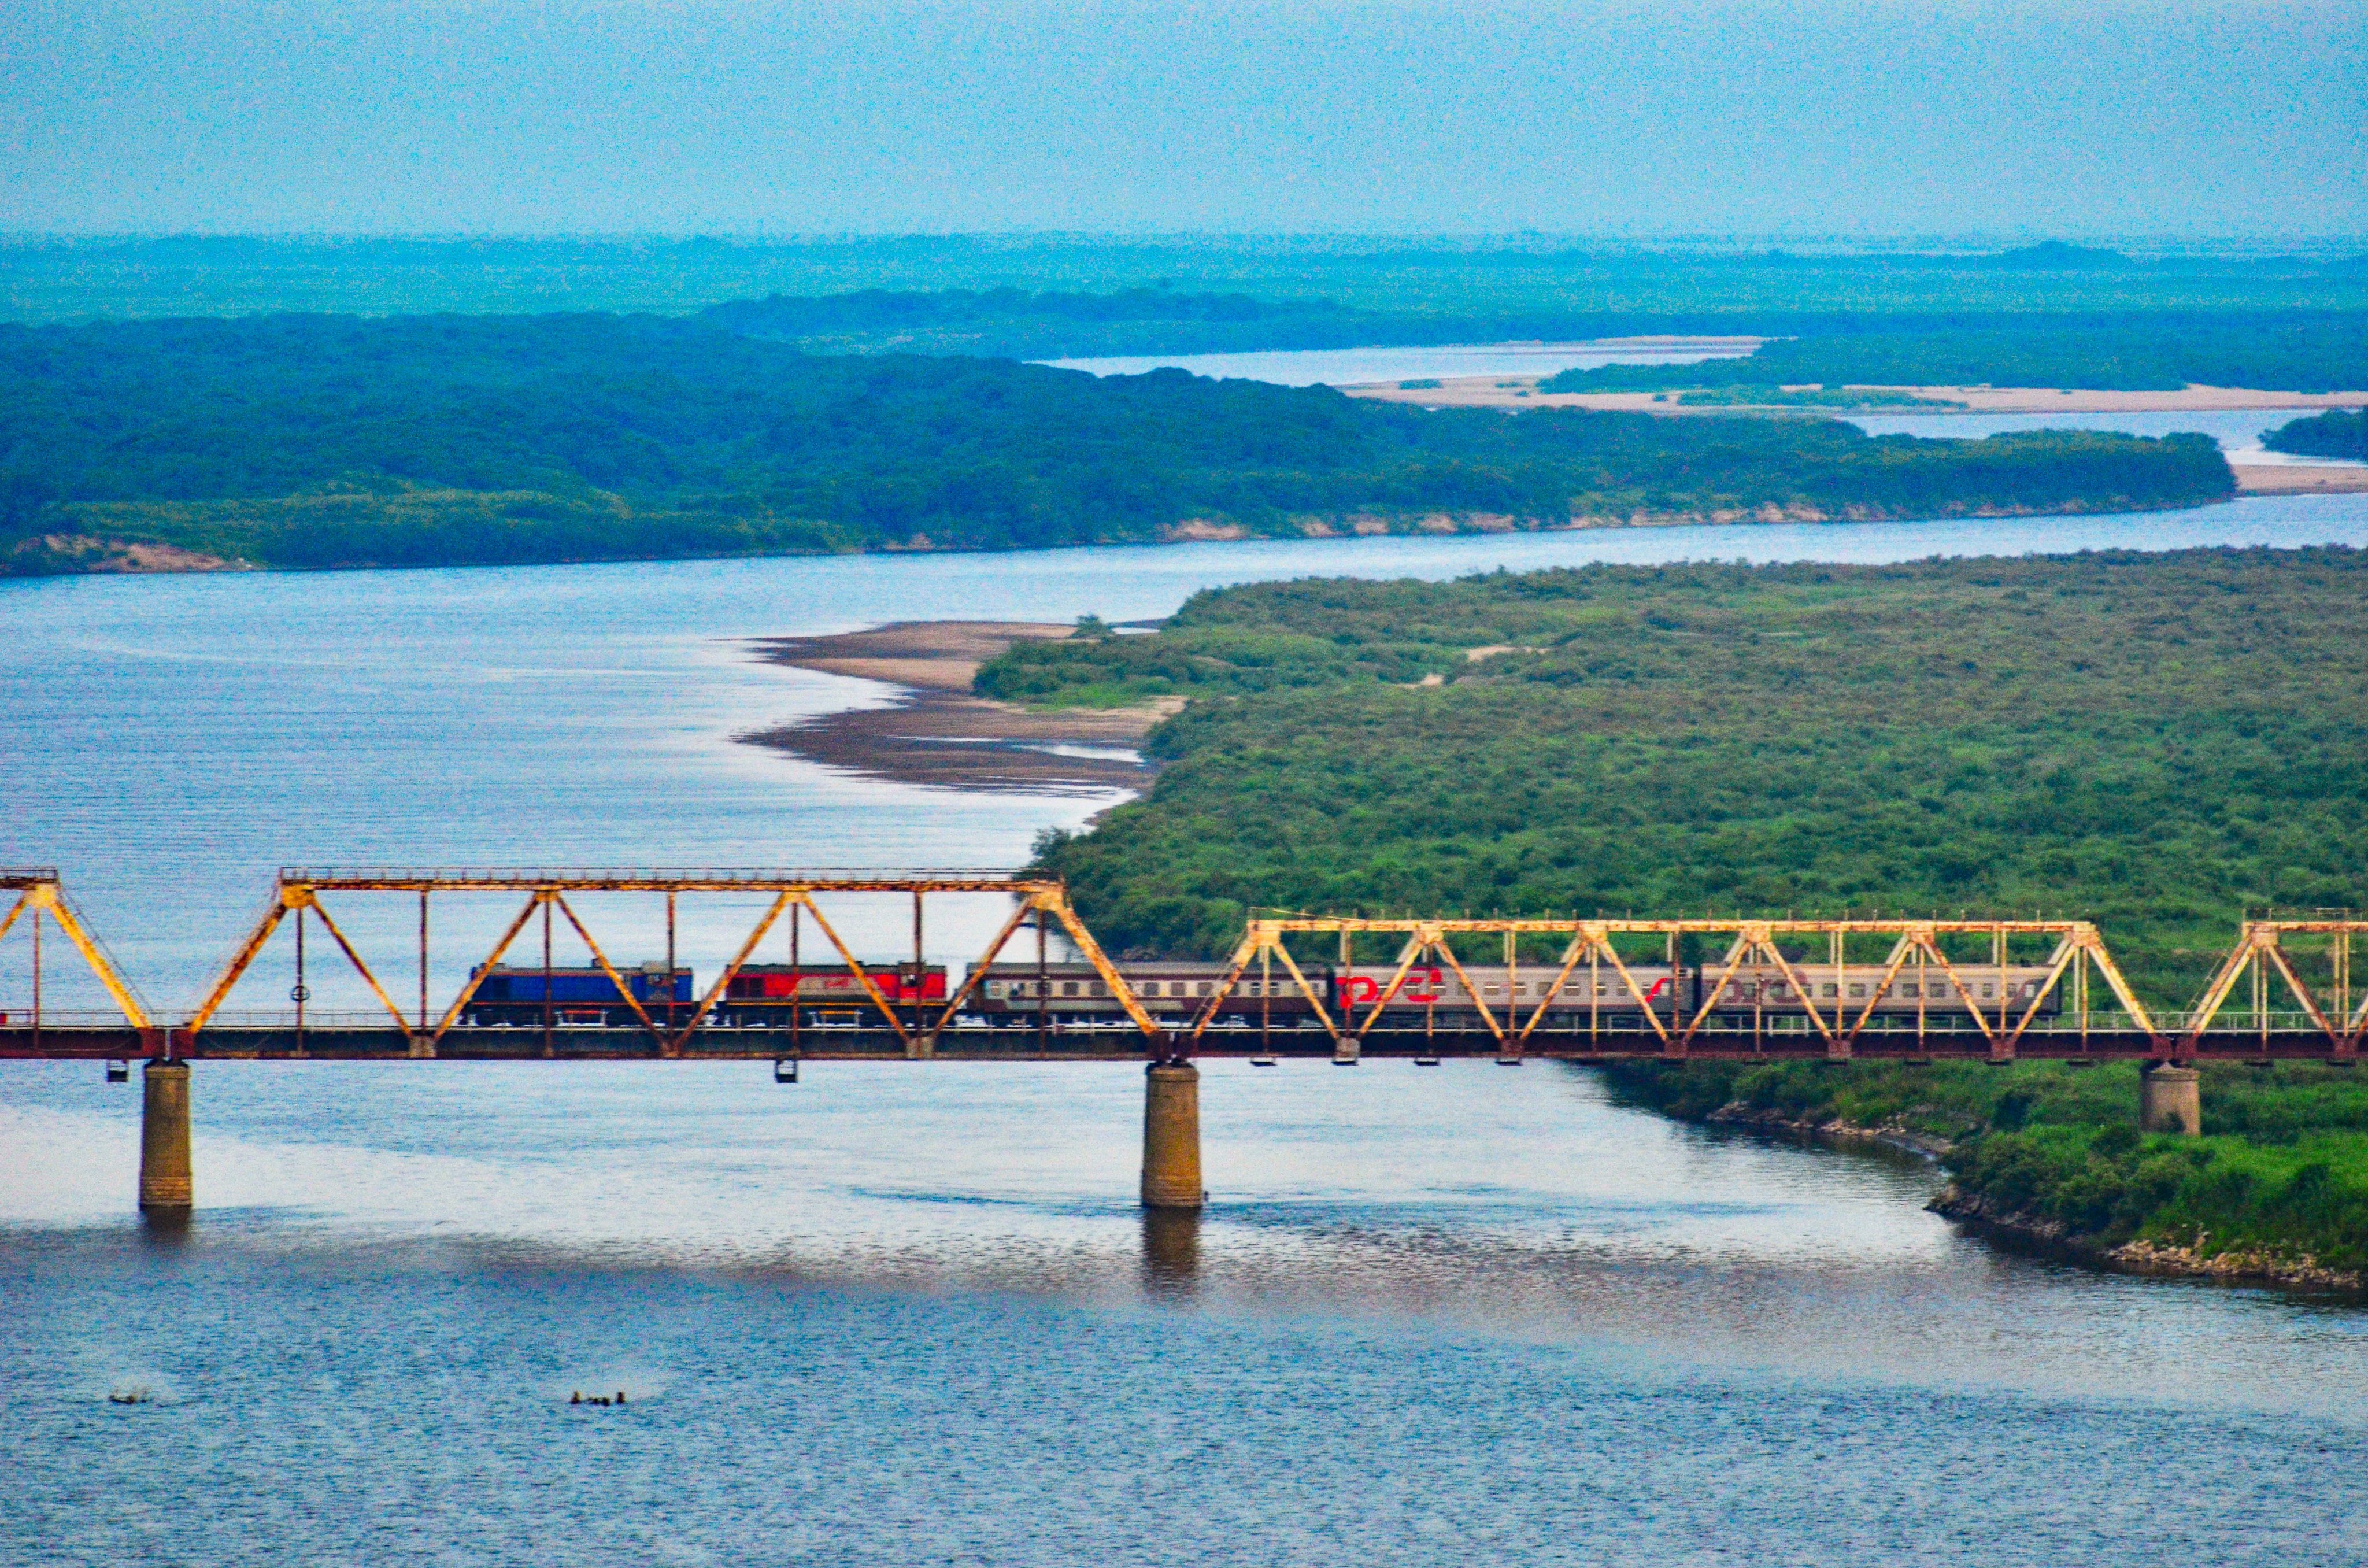
[[2193, 505], [2205, 438], [1423, 412], [1182, 372], [807, 355], [611, 315], [0, 327], [17, 571], [1044, 547], [1184, 533]]

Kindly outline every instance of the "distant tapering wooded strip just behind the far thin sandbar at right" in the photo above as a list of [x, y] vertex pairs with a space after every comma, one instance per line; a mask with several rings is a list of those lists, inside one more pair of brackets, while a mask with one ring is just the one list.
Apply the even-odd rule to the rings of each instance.
[[[1764, 343], [1740, 360], [1565, 369], [1539, 391], [1679, 391], [1781, 386], [2086, 386], [2176, 391], [2368, 386], [2368, 315], [2167, 315], [2115, 322], [2032, 320], [1823, 332]], [[1755, 396], [1752, 400], [1764, 400]]]

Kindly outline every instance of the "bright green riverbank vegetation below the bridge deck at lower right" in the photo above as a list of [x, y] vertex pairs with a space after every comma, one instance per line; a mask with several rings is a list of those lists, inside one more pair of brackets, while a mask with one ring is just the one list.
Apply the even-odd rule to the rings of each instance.
[[2356, 1071], [2205, 1068], [2200, 1139], [2138, 1132], [2134, 1063], [1636, 1061], [1608, 1075], [1624, 1099], [1688, 1120], [1740, 1104], [1951, 1139], [1961, 1191], [2089, 1248], [2155, 1241], [2368, 1270], [2368, 1082]]

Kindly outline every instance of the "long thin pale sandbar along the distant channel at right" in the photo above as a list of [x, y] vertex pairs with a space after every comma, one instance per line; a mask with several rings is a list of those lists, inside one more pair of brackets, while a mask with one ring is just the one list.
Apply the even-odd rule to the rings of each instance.
[[[1376, 403], [1418, 403], [1423, 407], [1594, 407], [1643, 415], [1736, 415], [1785, 412], [1833, 415], [1840, 407], [1752, 405], [1681, 407], [1679, 393], [1542, 393], [1539, 377], [1447, 377], [1437, 386], [1407, 388], [1397, 381], [1343, 386], [1352, 398]], [[2368, 391], [2280, 393], [2247, 386], [2186, 386], [2181, 391], [2067, 391], [2060, 386], [1866, 386], [1845, 391], [1906, 393], [1956, 407], [1875, 407], [1873, 412], [1918, 415], [2193, 415], [2252, 407], [2368, 407]], [[1660, 398], [1660, 400], [1655, 400]]]

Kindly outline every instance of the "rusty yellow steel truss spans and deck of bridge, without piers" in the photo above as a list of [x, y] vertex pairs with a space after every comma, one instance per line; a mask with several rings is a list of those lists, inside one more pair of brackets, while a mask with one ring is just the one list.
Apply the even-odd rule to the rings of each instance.
[[[1437, 1061], [1442, 1056], [1492, 1056], [1497, 1061], [1544, 1059], [1913, 1059], [1913, 1061], [2015, 1061], [2036, 1059], [2143, 1059], [2157, 1063], [2276, 1061], [2323, 1059], [2354, 1061], [2368, 1035], [2368, 995], [2351, 985], [2351, 940], [2368, 933], [2368, 919], [2247, 919], [2226, 959], [2214, 969], [2195, 1007], [2181, 1016], [2157, 1016], [2129, 988], [2122, 969], [2091, 921], [2079, 919], [1362, 919], [1362, 917], [1253, 917], [1222, 978], [1191, 1009], [1146, 1004], [1087, 931], [1058, 881], [978, 872], [914, 874], [807, 874], [807, 872], [583, 872], [583, 869], [284, 869], [272, 895], [230, 955], [204, 1000], [185, 1018], [166, 1018], [142, 1002], [107, 947], [95, 938], [66, 898], [54, 869], [0, 869], [0, 898], [14, 893], [0, 917], [0, 940], [12, 933], [31, 945], [31, 1007], [0, 1014], [0, 1056], [57, 1059], [661, 1059], [718, 1061], [867, 1061], [867, 1059], [969, 1059], [969, 1061], [1189, 1061], [1193, 1056], [1250, 1056], [1262, 1061], [1364, 1056], [1407, 1056]], [[748, 905], [762, 902], [725, 969], [691, 1002], [635, 1000], [609, 947], [571, 902], [587, 893], [644, 893], [665, 902], [665, 957], [675, 962], [677, 910], [684, 900], [734, 895]], [[469, 969], [457, 995], [433, 997], [429, 981], [429, 938], [433, 905], [459, 895], [519, 900], [478, 964]], [[857, 959], [838, 924], [824, 912], [824, 900], [845, 912], [860, 900], [909, 900], [912, 952], [921, 962], [926, 910], [933, 900], [990, 895], [1009, 902], [1009, 917], [995, 931], [966, 981], [942, 1002], [914, 1004], [881, 988], [879, 962]], [[405, 900], [417, 905], [417, 919], [405, 917], [407, 952], [365, 950], [350, 936], [350, 912], [365, 900]], [[348, 919], [332, 914], [332, 900]], [[54, 926], [73, 962], [97, 976], [114, 1014], [104, 1018], [57, 1016], [45, 1009], [45, 933]], [[369, 924], [374, 931], [386, 919]], [[315, 936], [317, 928], [317, 936]], [[1021, 940], [1023, 966], [1047, 964], [1047, 940], [1058, 931], [1066, 943], [1101, 976], [1118, 1014], [1111, 1021], [1077, 1023], [1037, 1011], [1035, 1018], [987, 1026], [973, 1011], [976, 988], [987, 964]], [[523, 971], [533, 962], [547, 971], [554, 964], [554, 936], [573, 933], [592, 964], [616, 983], [635, 1014], [632, 1028], [571, 1026], [545, 1004], [542, 1026], [481, 1028], [466, 1023], [471, 997], [493, 964], [528, 947]], [[812, 936], [810, 936], [812, 933]], [[786, 1009], [786, 1023], [767, 1028], [718, 1028], [718, 1002], [732, 978], [755, 959], [767, 936], [781, 938], [791, 964], [805, 955], [824, 962], [836, 957], [862, 988], [855, 1021], [822, 1028], [800, 1018], [800, 1007]], [[327, 950], [322, 940], [327, 938]], [[815, 945], [819, 938], [819, 945]], [[1328, 988], [1307, 978], [1300, 959], [1326, 938], [1338, 943], [1347, 962], [1357, 938], [1366, 950], [1376, 938], [1395, 947], [1395, 973], [1371, 1000], [1354, 1007], [1326, 995]], [[1539, 964], [1546, 978], [1534, 1004], [1516, 1004], [1518, 985], [1506, 985], [1506, 1002], [1489, 1007], [1482, 988], [1466, 973], [1478, 947], [1501, 940], [1504, 966], [1520, 969], [1523, 940], [1530, 950], [1556, 947], [1553, 962]], [[2297, 952], [2299, 947], [2309, 952]], [[239, 1014], [227, 1004], [251, 978], [256, 962], [282, 943], [291, 950], [296, 985], [289, 990], [294, 1011], [268, 1016]], [[1293, 955], [1298, 943], [1300, 955]], [[1461, 945], [1461, 955], [1459, 955]], [[1674, 995], [1655, 997], [1634, 973], [1646, 962], [1672, 969], [1684, 950], [1703, 952], [1693, 966], [1700, 976], [1700, 1002], [1681, 1007]], [[1866, 955], [1883, 947], [1880, 983], [1894, 976], [1946, 978], [1949, 1002], [1925, 1007], [1913, 1018], [1899, 1011], [1864, 1009], [1840, 1000], [1819, 1004], [1816, 978], [1840, 978], [1845, 955], [1854, 971], [1866, 969]], [[1650, 959], [1646, 950], [1655, 950]], [[1707, 957], [1717, 950], [1722, 957]], [[1965, 981], [1999, 973], [2010, 962], [2022, 969], [2044, 966], [2036, 995], [2006, 997], [1994, 1007], [1975, 1000]], [[2044, 957], [2041, 957], [2044, 955]], [[2297, 957], [2302, 964], [2297, 964]], [[308, 1009], [310, 978], [320, 964], [360, 978], [374, 1009], [367, 1014], [324, 1014]], [[1407, 997], [1409, 976], [1423, 964], [1456, 973], [1471, 1007], [1449, 1021], [1435, 1009], [1421, 1009]], [[1729, 995], [1745, 971], [1781, 973], [1797, 1007], [1769, 1018], [1759, 1007], [1738, 1011]], [[2304, 978], [2304, 969], [2311, 971]], [[2323, 973], [2321, 973], [2323, 971]], [[1238, 988], [1257, 976], [1253, 997], [1257, 1016], [1248, 1016]], [[395, 1002], [395, 981], [410, 981], [410, 1009]], [[1999, 985], [1999, 992], [2010, 988]], [[1674, 988], [1672, 988], [1674, 992]], [[1918, 985], [1918, 995], [1930, 995]], [[1044, 988], [1037, 985], [1040, 997]], [[1584, 1004], [1565, 1002], [1579, 997]], [[1276, 1018], [1274, 1000], [1286, 997], [1286, 1016]], [[1227, 1004], [1231, 1002], [1231, 1009]], [[1167, 1011], [1163, 1014], [1160, 1007]], [[1014, 1026], [1018, 1023], [1018, 1026]]]

